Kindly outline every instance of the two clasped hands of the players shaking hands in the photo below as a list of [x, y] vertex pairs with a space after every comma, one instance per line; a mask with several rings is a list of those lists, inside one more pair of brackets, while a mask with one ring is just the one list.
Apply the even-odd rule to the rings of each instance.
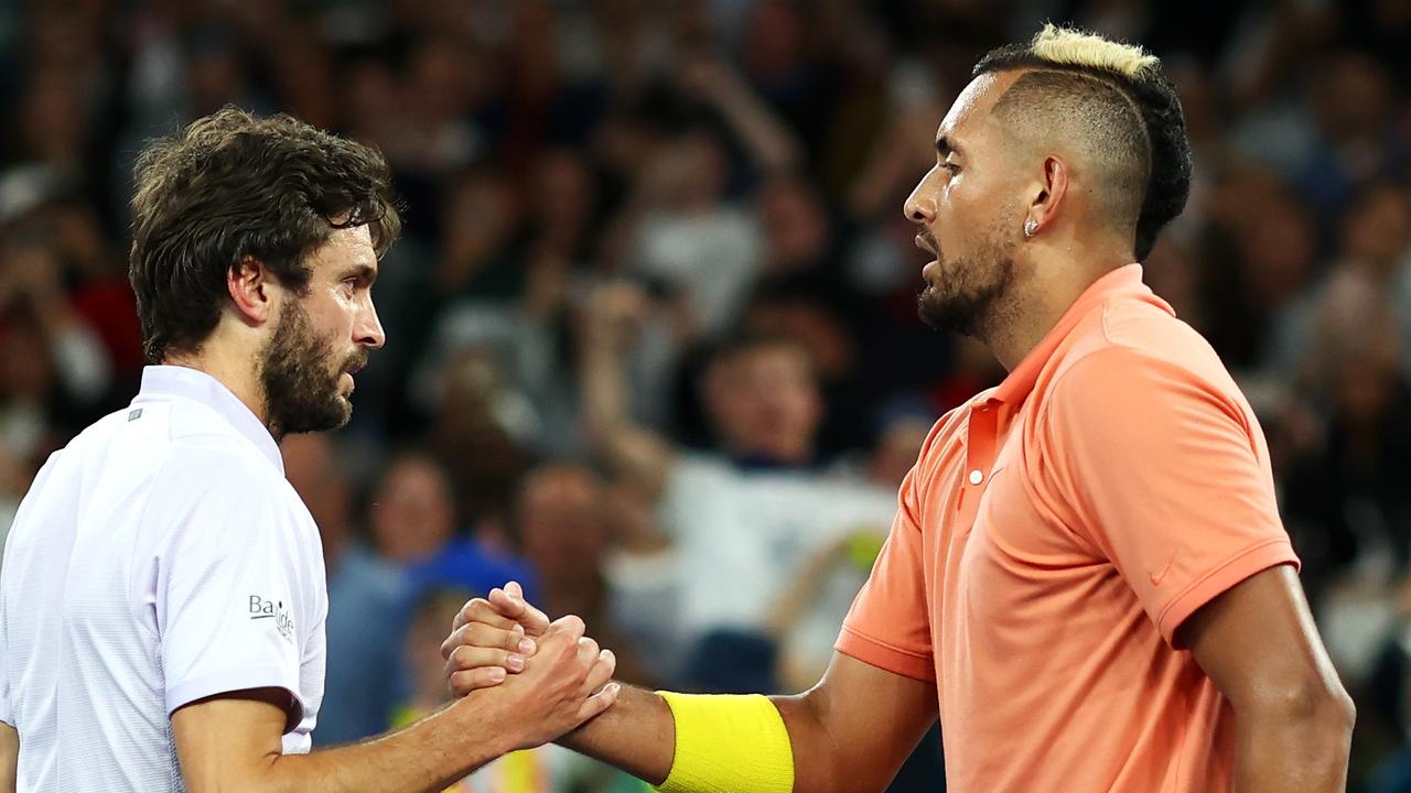
[[549, 617], [511, 581], [461, 607], [442, 643], [446, 682], [505, 738], [505, 751], [555, 741], [617, 703], [617, 656], [584, 636], [583, 619]]

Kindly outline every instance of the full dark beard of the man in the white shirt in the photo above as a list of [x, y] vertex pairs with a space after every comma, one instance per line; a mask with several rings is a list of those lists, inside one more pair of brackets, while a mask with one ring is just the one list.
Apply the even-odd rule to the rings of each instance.
[[309, 329], [303, 306], [291, 303], [260, 360], [265, 416], [275, 440], [299, 432], [339, 429], [353, 418], [353, 405], [339, 394], [339, 378], [351, 364], [365, 361], [367, 351], [330, 371], [326, 347]]

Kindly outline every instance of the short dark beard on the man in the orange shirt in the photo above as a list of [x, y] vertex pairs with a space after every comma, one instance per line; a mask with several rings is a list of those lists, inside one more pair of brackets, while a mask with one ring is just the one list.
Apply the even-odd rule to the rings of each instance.
[[[921, 322], [985, 340], [996, 303], [1015, 281], [1015, 247], [999, 247], [979, 260], [957, 262], [950, 281], [927, 284], [916, 299]], [[945, 270], [941, 277], [945, 278]]]

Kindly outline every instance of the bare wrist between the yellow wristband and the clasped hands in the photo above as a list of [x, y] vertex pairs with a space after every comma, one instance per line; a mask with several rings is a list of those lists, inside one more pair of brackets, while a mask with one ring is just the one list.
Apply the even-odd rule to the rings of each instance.
[[676, 755], [676, 720], [659, 694], [624, 687], [611, 710], [557, 742], [660, 785]]

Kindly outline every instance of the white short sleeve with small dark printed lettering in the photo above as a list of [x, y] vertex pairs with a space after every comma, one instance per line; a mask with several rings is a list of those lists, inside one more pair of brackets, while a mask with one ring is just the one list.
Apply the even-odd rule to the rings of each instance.
[[296, 626], [315, 617], [301, 614], [310, 560], [278, 484], [223, 471], [175, 526], [158, 562], [168, 713], [246, 689], [288, 691], [289, 730], [308, 710]]

